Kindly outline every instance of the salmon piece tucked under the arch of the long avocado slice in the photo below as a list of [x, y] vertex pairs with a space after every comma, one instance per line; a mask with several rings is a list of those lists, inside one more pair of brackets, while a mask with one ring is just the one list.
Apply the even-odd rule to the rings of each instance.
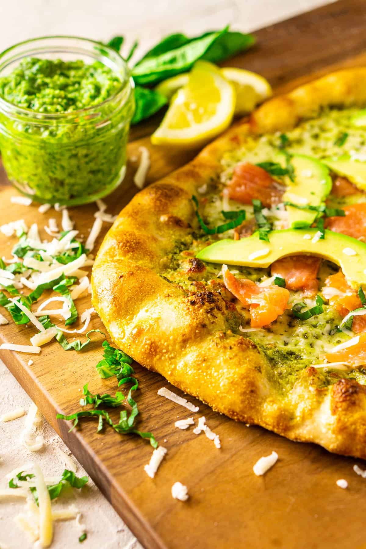
[[317, 275], [322, 260], [309, 255], [291, 255], [282, 257], [271, 266], [272, 276], [285, 279], [289, 290], [304, 290], [313, 295], [318, 292]]

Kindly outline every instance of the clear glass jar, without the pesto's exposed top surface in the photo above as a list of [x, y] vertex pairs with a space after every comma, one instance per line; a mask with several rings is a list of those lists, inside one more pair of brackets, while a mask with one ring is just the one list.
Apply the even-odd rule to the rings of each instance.
[[121, 81], [104, 102], [65, 113], [40, 113], [0, 97], [0, 150], [10, 182], [43, 203], [69, 206], [102, 198], [126, 171], [133, 80], [113, 49], [85, 38], [51, 36], [21, 42], [0, 54], [0, 78], [24, 58], [99, 61]]

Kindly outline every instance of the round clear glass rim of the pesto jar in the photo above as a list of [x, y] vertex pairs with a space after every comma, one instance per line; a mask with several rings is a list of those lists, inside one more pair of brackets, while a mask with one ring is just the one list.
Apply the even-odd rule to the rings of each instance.
[[[27, 116], [27, 117], [33, 117], [37, 120], [44, 120], [44, 121], [46, 121], [46, 120], [47, 121], [62, 120], [62, 119], [65, 120], [67, 118], [74, 118], [75, 116], [77, 117], [77, 116], [82, 116], [82, 115], [85, 115], [85, 114], [92, 113], [92, 111], [94, 111], [95, 109], [99, 109], [100, 107], [104, 107], [104, 105], [107, 105], [107, 104], [111, 103], [112, 101], [116, 100], [119, 96], [122, 96], [122, 94], [125, 93], [126, 88], [128, 88], [128, 86], [131, 88], [131, 91], [134, 88], [134, 82], [133, 82], [133, 79], [131, 77], [131, 70], [129, 69], [129, 67], [127, 65], [127, 61], [125, 59], [123, 59], [122, 55], [120, 55], [119, 52], [117, 52], [115, 49], [111, 48], [110, 46], [107, 46], [106, 44], [103, 44], [103, 43], [98, 42], [96, 40], [91, 40], [90, 38], [84, 38], [84, 37], [81, 37], [81, 36], [49, 35], [49, 36], [40, 36], [40, 37], [36, 37], [36, 38], [30, 38], [29, 40], [24, 40], [24, 41], [18, 42], [16, 44], [14, 44], [13, 46], [10, 46], [9, 48], [4, 49], [0, 53], [0, 72], [5, 66], [7, 66], [12, 60], [14, 60], [14, 58], [12, 57], [12, 58], [8, 59], [7, 61], [5, 61], [5, 63], [4, 63], [3, 58], [4, 58], [5, 55], [7, 55], [10, 52], [15, 51], [16, 48], [19, 48], [21, 46], [25, 46], [26, 44], [32, 44], [32, 43], [38, 42], [38, 41], [42, 42], [43, 40], [55, 40], [55, 41], [57, 41], [57, 40], [66, 40], [66, 41], [67, 40], [75, 40], [75, 41], [80, 41], [82, 43], [93, 44], [94, 46], [98, 47], [99, 51], [100, 51], [100, 48], [103, 48], [103, 51], [113, 55], [115, 60], [118, 63], [120, 63], [121, 68], [125, 72], [125, 79], [123, 81], [121, 80], [121, 87], [119, 89], [117, 89], [116, 92], [112, 93], [112, 95], [110, 97], [104, 99], [104, 101], [102, 101], [100, 103], [96, 103], [95, 105], [91, 105], [90, 107], [86, 107], [84, 109], [65, 111], [64, 113], [40, 113], [39, 111], [36, 111], [36, 110], [26, 109], [24, 107], [18, 107], [14, 103], [10, 103], [9, 101], [7, 101], [6, 99], [4, 99], [3, 97], [0, 96], [0, 111], [2, 110], [2, 107], [3, 107], [4, 110], [8, 113], [9, 113], [9, 111], [12, 111], [12, 113], [14, 113], [14, 114], [24, 115], [24, 116]], [[60, 46], [60, 51], [62, 51], [61, 48], [62, 48], [62, 46]], [[47, 51], [47, 48], [46, 48], [46, 51]], [[70, 49], [70, 52], [72, 52], [72, 49]], [[92, 57], [92, 55], [89, 52], [84, 52], [84, 54], [89, 54]], [[22, 58], [22, 57], [26, 57], [26, 52], [20, 58]], [[105, 57], [105, 55], [103, 55], [103, 57]], [[105, 66], [109, 66], [108, 64], [104, 63], [102, 59], [98, 59], [97, 57], [95, 57], [95, 59], [100, 60], [100, 62], [103, 63]], [[111, 68], [111, 67], [109, 66], [109, 68]], [[129, 97], [129, 93], [128, 93], [128, 97]]]

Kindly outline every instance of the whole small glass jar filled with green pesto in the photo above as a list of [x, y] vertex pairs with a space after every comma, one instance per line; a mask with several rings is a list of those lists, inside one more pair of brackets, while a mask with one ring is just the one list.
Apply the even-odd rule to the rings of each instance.
[[52, 36], [0, 54], [0, 151], [10, 182], [39, 202], [102, 198], [126, 171], [133, 81], [113, 49]]

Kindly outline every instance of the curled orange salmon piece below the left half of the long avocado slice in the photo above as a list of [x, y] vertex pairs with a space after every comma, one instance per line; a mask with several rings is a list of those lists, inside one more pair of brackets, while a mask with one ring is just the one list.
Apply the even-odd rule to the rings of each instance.
[[252, 328], [267, 326], [288, 308], [290, 292], [286, 288], [258, 286], [249, 279], [235, 278], [226, 265], [222, 275], [227, 289], [249, 309]]

